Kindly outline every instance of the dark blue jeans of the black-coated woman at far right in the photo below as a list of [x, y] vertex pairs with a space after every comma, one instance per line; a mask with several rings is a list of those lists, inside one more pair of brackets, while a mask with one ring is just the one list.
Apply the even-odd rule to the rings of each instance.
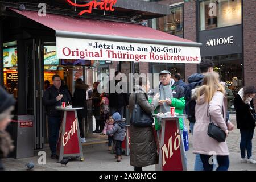
[[251, 150], [253, 148], [253, 144], [251, 140], [253, 139], [254, 129], [243, 130], [240, 129], [241, 134], [241, 142], [240, 142], [240, 151], [241, 158], [245, 158], [245, 150], [247, 151], [247, 158], [251, 158]]

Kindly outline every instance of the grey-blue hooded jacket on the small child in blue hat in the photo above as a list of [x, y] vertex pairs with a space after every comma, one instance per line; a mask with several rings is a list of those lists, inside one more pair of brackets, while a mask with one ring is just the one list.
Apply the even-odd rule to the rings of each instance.
[[125, 118], [116, 120], [112, 130], [106, 132], [107, 135], [112, 135], [114, 140], [123, 141], [125, 139]]

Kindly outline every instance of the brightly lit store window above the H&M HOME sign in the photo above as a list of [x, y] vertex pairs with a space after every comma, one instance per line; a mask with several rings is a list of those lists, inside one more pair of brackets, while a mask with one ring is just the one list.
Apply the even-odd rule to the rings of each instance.
[[241, 24], [241, 0], [205, 0], [199, 6], [200, 30]]

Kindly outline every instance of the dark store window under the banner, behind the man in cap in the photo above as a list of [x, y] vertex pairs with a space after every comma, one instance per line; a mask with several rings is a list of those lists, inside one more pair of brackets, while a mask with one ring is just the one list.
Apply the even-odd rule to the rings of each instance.
[[[152, 69], [152, 80], [158, 80], [159, 76], [155, 75], [154, 73], [160, 73], [163, 70], [170, 71], [171, 75], [174, 76], [175, 73], [180, 73], [181, 77], [185, 77], [185, 65], [184, 64], [177, 64], [177, 63], [151, 63], [151, 69]], [[157, 76], [157, 78], [155, 78]], [[154, 82], [152, 83], [154, 84]], [[154, 87], [157, 85], [153, 85]]]

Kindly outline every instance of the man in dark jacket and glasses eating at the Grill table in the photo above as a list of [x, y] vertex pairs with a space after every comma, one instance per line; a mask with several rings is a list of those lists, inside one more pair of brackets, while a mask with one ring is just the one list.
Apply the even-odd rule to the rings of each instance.
[[55, 107], [61, 106], [61, 102], [69, 102], [71, 97], [68, 90], [61, 87], [61, 79], [59, 75], [52, 76], [53, 86], [46, 89], [43, 97], [43, 104], [47, 107], [48, 123], [49, 123], [49, 144], [51, 149], [51, 158], [56, 157], [56, 145], [59, 137], [59, 129], [61, 122], [61, 111]]

